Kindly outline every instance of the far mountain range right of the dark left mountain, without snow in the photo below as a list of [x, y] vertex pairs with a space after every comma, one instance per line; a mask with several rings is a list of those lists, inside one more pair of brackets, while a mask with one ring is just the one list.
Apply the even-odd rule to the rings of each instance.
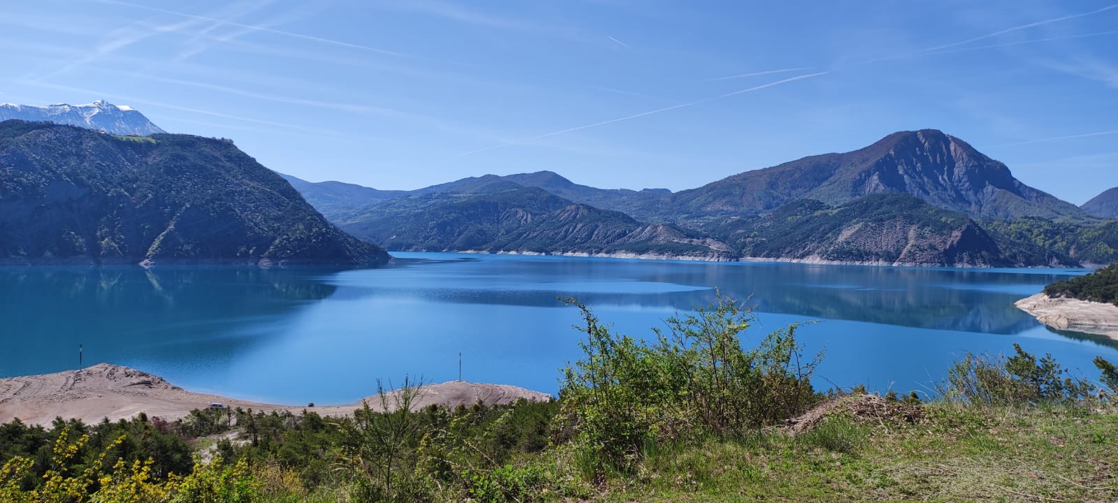
[[680, 192], [598, 189], [550, 171], [411, 191], [286, 178], [344, 230], [399, 250], [972, 267], [1118, 259], [1118, 226], [936, 130]]

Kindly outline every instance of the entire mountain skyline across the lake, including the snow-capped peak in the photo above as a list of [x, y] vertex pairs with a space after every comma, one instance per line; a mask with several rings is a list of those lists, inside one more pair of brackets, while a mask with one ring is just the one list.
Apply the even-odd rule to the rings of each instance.
[[599, 189], [550, 171], [405, 191], [281, 178], [229, 141], [162, 134], [106, 102], [0, 106], [0, 117], [15, 114], [111, 134], [0, 123], [6, 263], [388, 258], [350, 234], [395, 250], [973, 267], [1118, 260], [1118, 220], [1105, 220], [1118, 217], [1118, 188], [1077, 208], [936, 130], [679, 192]]

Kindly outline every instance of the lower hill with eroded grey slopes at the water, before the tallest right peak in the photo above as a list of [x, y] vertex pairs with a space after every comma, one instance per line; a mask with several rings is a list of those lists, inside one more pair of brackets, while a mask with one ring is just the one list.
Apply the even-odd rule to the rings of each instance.
[[1013, 265], [966, 215], [908, 194], [870, 194], [837, 207], [803, 199], [759, 218], [705, 228], [742, 256], [811, 263], [997, 267]]

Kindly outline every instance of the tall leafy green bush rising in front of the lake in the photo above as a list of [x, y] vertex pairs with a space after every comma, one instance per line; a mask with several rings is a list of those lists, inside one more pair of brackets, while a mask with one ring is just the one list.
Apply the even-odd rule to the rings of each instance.
[[733, 436], [778, 424], [814, 400], [796, 325], [767, 335], [754, 350], [740, 335], [750, 310], [719, 296], [709, 306], [667, 320], [648, 344], [610, 332], [576, 300], [587, 338], [584, 357], [563, 370], [560, 399], [595, 472], [629, 469], [651, 444], [697, 434]]

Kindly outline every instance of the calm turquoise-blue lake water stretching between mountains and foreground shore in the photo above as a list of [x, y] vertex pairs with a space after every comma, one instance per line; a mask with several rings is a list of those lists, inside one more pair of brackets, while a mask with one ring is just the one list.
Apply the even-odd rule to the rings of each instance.
[[[749, 298], [756, 341], [796, 321], [817, 387], [927, 390], [967, 351], [1050, 352], [1097, 378], [1118, 342], [1057, 333], [1013, 302], [1083, 269], [944, 269], [395, 254], [369, 271], [244, 267], [0, 268], [0, 377], [112, 362], [189, 390], [341, 404], [405, 374], [555, 392], [579, 355], [577, 296], [651, 336], [716, 288]], [[751, 297], [750, 297], [751, 295]]]

